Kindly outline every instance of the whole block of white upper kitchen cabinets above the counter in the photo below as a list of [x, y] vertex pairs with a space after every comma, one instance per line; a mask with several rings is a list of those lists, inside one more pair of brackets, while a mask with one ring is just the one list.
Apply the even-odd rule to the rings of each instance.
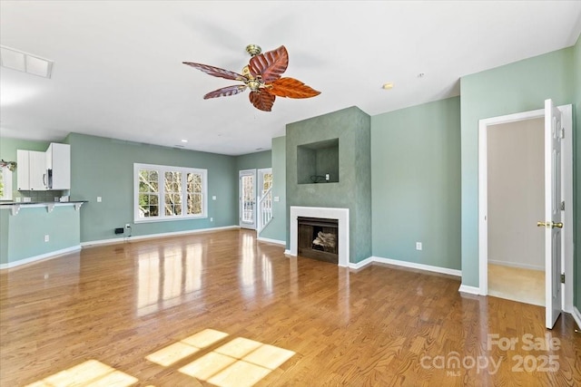
[[19, 190], [71, 189], [71, 146], [52, 143], [45, 152], [17, 150]]

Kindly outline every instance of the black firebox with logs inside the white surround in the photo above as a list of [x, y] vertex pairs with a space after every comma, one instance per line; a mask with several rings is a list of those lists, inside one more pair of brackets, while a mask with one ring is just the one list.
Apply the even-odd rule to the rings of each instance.
[[298, 217], [297, 223], [300, 256], [339, 263], [339, 219]]

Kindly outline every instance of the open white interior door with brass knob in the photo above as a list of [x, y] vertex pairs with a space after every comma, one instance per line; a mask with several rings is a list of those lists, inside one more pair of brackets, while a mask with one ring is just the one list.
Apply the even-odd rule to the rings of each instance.
[[561, 113], [553, 101], [545, 101], [545, 220], [537, 225], [545, 227], [545, 320], [553, 329], [561, 314]]

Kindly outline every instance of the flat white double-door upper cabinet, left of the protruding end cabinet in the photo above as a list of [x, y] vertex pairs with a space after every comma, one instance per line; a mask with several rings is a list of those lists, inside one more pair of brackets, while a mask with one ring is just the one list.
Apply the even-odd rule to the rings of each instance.
[[16, 150], [18, 190], [46, 190], [46, 156], [36, 150]]

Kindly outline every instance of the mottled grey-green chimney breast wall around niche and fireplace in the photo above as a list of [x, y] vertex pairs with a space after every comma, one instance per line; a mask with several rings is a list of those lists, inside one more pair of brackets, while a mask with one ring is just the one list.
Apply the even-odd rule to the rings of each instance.
[[[287, 221], [291, 206], [349, 208], [351, 263], [371, 256], [370, 121], [353, 106], [287, 125]], [[334, 139], [339, 139], [339, 182], [299, 184], [297, 147]]]

